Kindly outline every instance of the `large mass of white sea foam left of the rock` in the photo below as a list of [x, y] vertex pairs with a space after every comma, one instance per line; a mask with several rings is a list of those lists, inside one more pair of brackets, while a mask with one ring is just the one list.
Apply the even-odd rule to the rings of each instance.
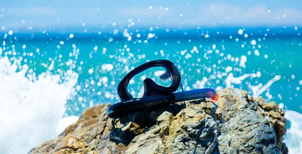
[[69, 117], [67, 123], [61, 118], [78, 74], [26, 75], [28, 66], [21, 66], [20, 61], [0, 58], [0, 149], [8, 154], [27, 153], [55, 138], [62, 127], [76, 119]]

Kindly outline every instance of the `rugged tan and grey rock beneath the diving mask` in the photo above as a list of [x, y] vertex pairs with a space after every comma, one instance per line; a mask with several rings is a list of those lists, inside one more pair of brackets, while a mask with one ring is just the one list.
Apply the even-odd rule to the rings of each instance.
[[106, 115], [109, 105], [86, 110], [30, 153], [287, 153], [284, 112], [275, 102], [253, 99], [246, 91], [218, 91], [205, 99], [129, 113]]

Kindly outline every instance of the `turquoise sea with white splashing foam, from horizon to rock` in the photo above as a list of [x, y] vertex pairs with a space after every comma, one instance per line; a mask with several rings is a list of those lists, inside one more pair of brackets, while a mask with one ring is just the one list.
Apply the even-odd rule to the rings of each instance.
[[[302, 27], [140, 28], [86, 32], [0, 29], [0, 148], [27, 153], [94, 105], [119, 102], [135, 67], [177, 64], [184, 90], [225, 87], [275, 101], [288, 120], [284, 142], [302, 151]], [[132, 80], [133, 95], [143, 92]]]

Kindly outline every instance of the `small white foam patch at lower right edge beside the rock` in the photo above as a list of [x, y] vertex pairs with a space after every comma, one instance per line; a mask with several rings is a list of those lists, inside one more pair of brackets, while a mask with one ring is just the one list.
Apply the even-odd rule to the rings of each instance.
[[290, 121], [290, 128], [286, 130], [284, 142], [289, 153], [302, 153], [302, 114], [286, 111], [285, 118]]

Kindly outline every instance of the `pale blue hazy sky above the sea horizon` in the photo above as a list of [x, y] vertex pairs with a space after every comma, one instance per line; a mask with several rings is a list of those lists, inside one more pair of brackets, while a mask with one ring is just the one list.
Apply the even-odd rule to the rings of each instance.
[[302, 25], [300, 0], [1, 0], [0, 30], [68, 27], [283, 27]]

